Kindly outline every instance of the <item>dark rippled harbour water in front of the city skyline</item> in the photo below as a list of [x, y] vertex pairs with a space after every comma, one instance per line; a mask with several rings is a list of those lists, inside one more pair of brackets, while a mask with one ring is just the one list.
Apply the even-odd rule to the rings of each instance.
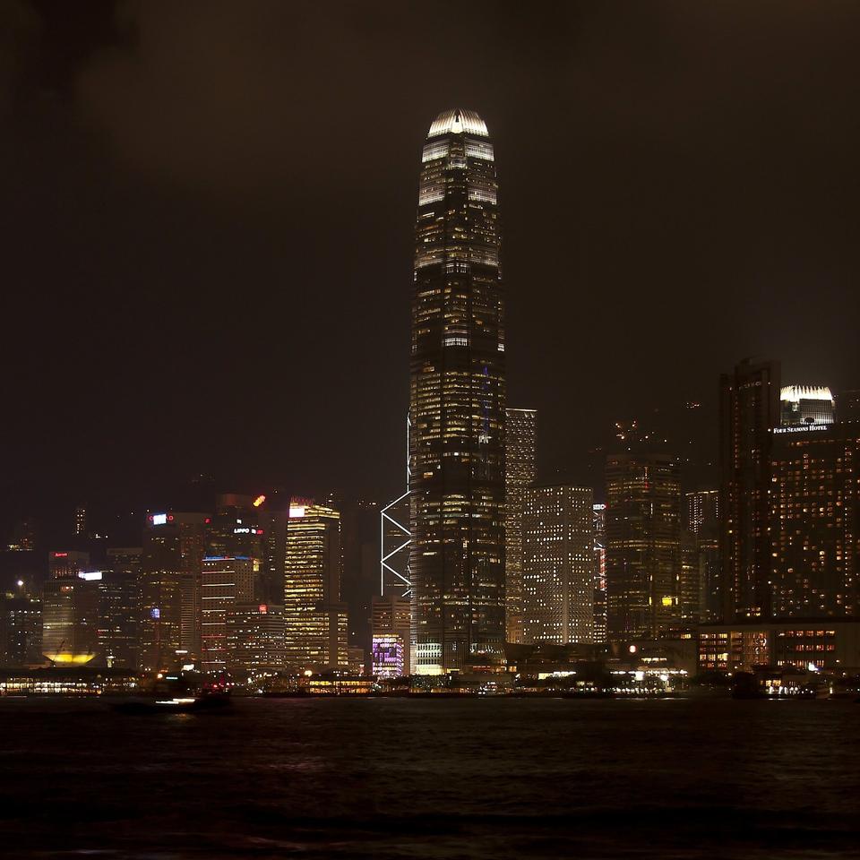
[[15, 857], [858, 857], [850, 701], [0, 701]]

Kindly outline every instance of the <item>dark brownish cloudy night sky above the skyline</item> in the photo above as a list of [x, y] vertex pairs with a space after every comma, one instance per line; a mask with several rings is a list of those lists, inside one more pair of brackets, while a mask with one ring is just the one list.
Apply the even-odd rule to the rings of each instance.
[[[860, 387], [860, 4], [0, 7], [5, 524], [400, 486], [420, 149], [496, 147], [545, 476], [741, 357]], [[714, 432], [714, 438], [716, 433]]]

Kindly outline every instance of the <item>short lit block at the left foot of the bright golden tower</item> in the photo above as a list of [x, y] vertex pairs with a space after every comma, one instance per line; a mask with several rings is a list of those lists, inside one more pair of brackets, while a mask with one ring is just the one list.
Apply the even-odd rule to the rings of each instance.
[[271, 603], [239, 604], [227, 615], [227, 667], [250, 677], [284, 668], [284, 614]]

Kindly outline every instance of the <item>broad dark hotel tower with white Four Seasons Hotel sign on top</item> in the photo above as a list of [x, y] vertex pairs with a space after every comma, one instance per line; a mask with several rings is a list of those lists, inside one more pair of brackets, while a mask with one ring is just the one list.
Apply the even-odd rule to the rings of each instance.
[[860, 422], [773, 435], [772, 615], [860, 615]]

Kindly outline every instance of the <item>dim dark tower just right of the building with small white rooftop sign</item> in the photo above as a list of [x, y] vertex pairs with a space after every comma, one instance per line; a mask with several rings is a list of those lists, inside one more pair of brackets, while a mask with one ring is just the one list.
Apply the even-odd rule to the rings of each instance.
[[99, 660], [137, 669], [141, 662], [140, 547], [110, 547], [99, 580]]

